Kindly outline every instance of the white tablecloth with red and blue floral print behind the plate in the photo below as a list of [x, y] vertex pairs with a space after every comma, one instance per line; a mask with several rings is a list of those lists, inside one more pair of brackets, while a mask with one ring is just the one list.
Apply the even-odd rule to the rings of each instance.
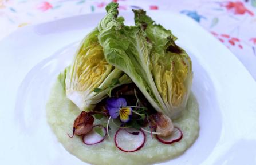
[[[109, 2], [0, 0], [0, 39], [23, 26], [73, 15], [102, 12]], [[114, 0], [114, 2], [120, 4], [120, 10], [168, 10], [191, 17], [226, 45], [256, 79], [256, 0]]]

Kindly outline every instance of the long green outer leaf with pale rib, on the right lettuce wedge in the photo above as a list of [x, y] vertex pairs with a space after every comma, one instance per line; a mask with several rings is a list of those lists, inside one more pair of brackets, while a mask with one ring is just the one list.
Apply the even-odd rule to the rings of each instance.
[[156, 96], [157, 88], [149, 69], [152, 45], [147, 42], [140, 28], [125, 26], [117, 21], [117, 7], [116, 3], [107, 5], [107, 15], [98, 26], [99, 42], [103, 46], [105, 59], [127, 73], [149, 102], [153, 103], [154, 108], [162, 111], [161, 100]]

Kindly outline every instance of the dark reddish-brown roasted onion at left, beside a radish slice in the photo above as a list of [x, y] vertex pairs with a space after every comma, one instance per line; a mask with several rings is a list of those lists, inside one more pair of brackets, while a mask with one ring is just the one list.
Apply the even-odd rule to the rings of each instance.
[[90, 132], [90, 130], [92, 130], [93, 122], [93, 116], [85, 111], [82, 111], [81, 114], [77, 116], [76, 120], [74, 120], [74, 134], [78, 136], [87, 134]]

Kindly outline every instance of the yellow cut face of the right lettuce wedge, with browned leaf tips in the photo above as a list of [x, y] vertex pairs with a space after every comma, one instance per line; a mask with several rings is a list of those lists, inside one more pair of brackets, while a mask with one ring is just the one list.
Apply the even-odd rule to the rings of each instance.
[[186, 51], [175, 44], [170, 30], [155, 24], [143, 10], [133, 10], [135, 23], [152, 42], [151, 73], [164, 102], [164, 114], [174, 118], [186, 107], [192, 84], [192, 63]]

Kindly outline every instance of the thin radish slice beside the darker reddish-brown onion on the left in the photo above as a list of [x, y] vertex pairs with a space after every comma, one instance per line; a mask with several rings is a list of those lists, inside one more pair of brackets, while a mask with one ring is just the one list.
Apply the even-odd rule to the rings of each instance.
[[[95, 127], [100, 127], [102, 129], [102, 131], [103, 131], [104, 136], [101, 136], [97, 132], [95, 132], [94, 131]], [[105, 139], [106, 135], [107, 135], [106, 128], [104, 126], [102, 126], [102, 125], [96, 125], [96, 126], [92, 127], [92, 130], [88, 134], [85, 134], [82, 137], [82, 141], [86, 145], [93, 145], [93, 144], [97, 144], [97, 143], [102, 142]]]

